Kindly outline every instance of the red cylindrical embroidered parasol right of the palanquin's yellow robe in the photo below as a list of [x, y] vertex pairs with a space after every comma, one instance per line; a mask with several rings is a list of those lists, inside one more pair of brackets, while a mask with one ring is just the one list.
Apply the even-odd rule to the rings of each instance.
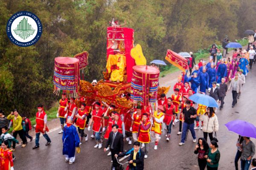
[[156, 102], [159, 73], [155, 67], [135, 65], [131, 78], [131, 99], [143, 102], [144, 106]]

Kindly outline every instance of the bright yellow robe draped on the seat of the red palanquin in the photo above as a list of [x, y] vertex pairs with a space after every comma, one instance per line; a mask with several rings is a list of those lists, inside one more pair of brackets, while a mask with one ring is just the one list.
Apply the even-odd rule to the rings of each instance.
[[109, 54], [106, 68], [111, 73], [112, 82], [122, 82], [125, 74], [126, 58], [124, 54]]

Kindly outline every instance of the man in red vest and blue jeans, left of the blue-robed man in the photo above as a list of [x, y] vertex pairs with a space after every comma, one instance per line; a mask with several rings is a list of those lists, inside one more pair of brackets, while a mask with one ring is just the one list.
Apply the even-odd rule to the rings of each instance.
[[33, 149], [39, 147], [40, 133], [43, 133], [44, 138], [47, 140], [45, 145], [48, 146], [51, 143], [51, 139], [46, 134], [46, 132], [49, 131], [47, 127], [47, 114], [44, 112], [44, 107], [41, 104], [38, 105], [38, 112], [35, 115], [35, 122], [35, 146]]

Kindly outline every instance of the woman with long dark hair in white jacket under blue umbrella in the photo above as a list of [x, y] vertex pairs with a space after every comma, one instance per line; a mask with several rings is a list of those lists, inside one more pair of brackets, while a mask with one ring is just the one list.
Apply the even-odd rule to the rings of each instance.
[[212, 133], [217, 132], [219, 127], [218, 118], [213, 108], [207, 108], [206, 113], [200, 116], [200, 120], [204, 121], [204, 139], [207, 141], [207, 136], [209, 135], [210, 141], [212, 141]]

